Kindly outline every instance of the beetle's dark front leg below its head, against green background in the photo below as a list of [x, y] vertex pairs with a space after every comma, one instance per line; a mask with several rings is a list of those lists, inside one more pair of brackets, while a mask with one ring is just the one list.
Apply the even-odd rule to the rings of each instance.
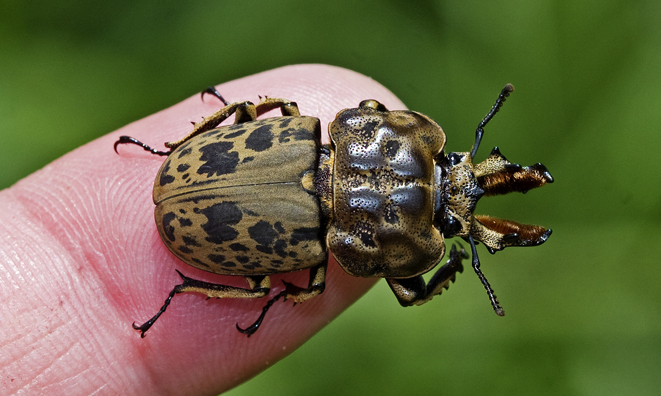
[[467, 258], [468, 254], [464, 249], [457, 250], [456, 245], [452, 245], [449, 260], [436, 271], [429, 283], [425, 284], [422, 275], [406, 279], [387, 278], [386, 281], [403, 307], [422, 305], [435, 295], [441, 294], [443, 289], [450, 287], [450, 282], [454, 282], [457, 272], [464, 270], [461, 261]]

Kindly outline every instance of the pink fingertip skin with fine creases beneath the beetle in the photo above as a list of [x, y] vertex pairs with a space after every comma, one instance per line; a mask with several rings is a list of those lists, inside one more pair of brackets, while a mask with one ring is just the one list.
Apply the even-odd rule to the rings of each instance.
[[[257, 103], [258, 95], [295, 101], [301, 114], [321, 119], [324, 133], [339, 110], [363, 99], [405, 108], [370, 78], [322, 65], [283, 67], [217, 89], [230, 102]], [[220, 106], [194, 95], [0, 192], [0, 394], [215, 395], [291, 353], [373, 285], [331, 257], [326, 291], [293, 308], [277, 302], [250, 338], [234, 325], [251, 324], [266, 299], [181, 294], [146, 338], [131, 328], [180, 283], [175, 269], [245, 287], [241, 277], [197, 270], [166, 249], [151, 199], [163, 158], [137, 146], [120, 147], [120, 155], [112, 149], [120, 135], [161, 148]], [[283, 279], [304, 286], [307, 277], [275, 275], [271, 293], [282, 290]]]

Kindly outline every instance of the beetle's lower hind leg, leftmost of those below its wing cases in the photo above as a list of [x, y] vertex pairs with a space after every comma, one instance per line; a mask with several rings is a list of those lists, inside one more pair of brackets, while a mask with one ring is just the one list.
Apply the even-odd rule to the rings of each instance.
[[133, 328], [140, 331], [141, 337], [144, 338], [147, 330], [149, 330], [154, 322], [156, 322], [156, 320], [165, 312], [175, 294], [195, 292], [206, 294], [208, 298], [258, 298], [269, 294], [269, 291], [271, 290], [271, 280], [268, 276], [246, 276], [245, 278], [250, 289], [243, 289], [235, 286], [203, 282], [184, 276], [179, 271], [177, 271], [177, 273], [181, 276], [181, 279], [183, 279], [184, 282], [172, 289], [168, 298], [165, 300], [165, 303], [156, 315], [140, 326], [133, 323]]

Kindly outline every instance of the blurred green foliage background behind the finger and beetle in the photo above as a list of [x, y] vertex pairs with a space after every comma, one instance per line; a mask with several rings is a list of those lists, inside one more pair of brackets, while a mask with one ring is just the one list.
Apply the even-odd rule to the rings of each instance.
[[[210, 84], [328, 63], [373, 77], [468, 150], [487, 128], [556, 182], [478, 211], [554, 229], [401, 308], [385, 282], [238, 395], [656, 395], [661, 3], [0, 1], [0, 187]], [[238, 99], [238, 98], [237, 98]], [[377, 98], [378, 99], [378, 98]]]

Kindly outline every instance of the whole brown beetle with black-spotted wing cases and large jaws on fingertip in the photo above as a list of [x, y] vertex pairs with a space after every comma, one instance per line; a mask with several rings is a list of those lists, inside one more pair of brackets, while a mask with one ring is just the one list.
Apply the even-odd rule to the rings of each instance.
[[[445, 239], [462, 238], [472, 267], [495, 313], [504, 315], [480, 269], [476, 244], [490, 253], [509, 246], [544, 243], [551, 229], [474, 215], [482, 196], [523, 192], [553, 182], [541, 163], [509, 162], [496, 147], [473, 159], [484, 127], [513, 91], [507, 84], [479, 123], [469, 152], [445, 153], [446, 136], [421, 113], [389, 111], [376, 100], [345, 109], [329, 125], [331, 144], [321, 144], [318, 118], [302, 116], [295, 102], [261, 98], [224, 104], [194, 123], [181, 140], [159, 151], [167, 159], [154, 182], [155, 220], [167, 248], [186, 264], [223, 275], [243, 276], [248, 288], [189, 278], [172, 289], [161, 309], [133, 328], [144, 337], [175, 294], [208, 298], [259, 298], [269, 294], [269, 275], [309, 269], [307, 287], [284, 282], [255, 323], [237, 329], [250, 336], [280, 298], [304, 302], [325, 287], [329, 251], [350, 275], [385, 278], [402, 306], [421, 305], [441, 294], [468, 258], [453, 245], [448, 261], [429, 282], [422, 274], [445, 255]], [[280, 109], [282, 116], [257, 119]], [[234, 124], [218, 127], [231, 115]]]

